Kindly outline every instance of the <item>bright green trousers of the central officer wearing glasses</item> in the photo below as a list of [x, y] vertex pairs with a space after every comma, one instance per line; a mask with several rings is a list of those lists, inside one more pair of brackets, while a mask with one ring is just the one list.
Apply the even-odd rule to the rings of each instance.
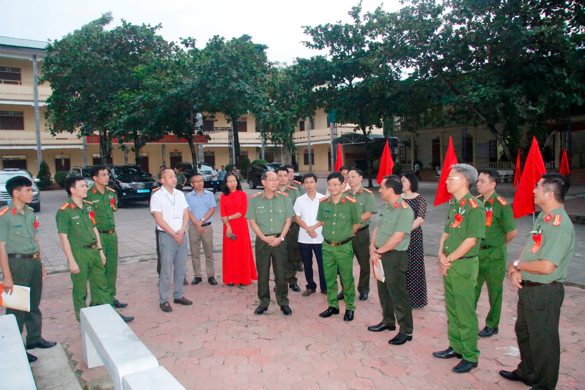
[[345, 285], [344, 299], [346, 310], [355, 310], [356, 286], [353, 280], [353, 249], [352, 243], [331, 246], [323, 243], [323, 271], [327, 282], [327, 302], [330, 308], [339, 309], [337, 300], [337, 271]]

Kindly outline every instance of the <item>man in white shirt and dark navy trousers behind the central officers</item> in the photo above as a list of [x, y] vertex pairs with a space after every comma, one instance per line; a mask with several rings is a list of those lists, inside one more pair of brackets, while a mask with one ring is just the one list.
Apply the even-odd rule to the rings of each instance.
[[[298, 245], [305, 268], [305, 279], [307, 279], [307, 290], [302, 293], [302, 296], [309, 296], [317, 289], [317, 285], [313, 279], [313, 253], [315, 253], [317, 267], [319, 268], [319, 288], [321, 288], [321, 294], [327, 294], [327, 284], [323, 271], [323, 256], [321, 253], [323, 244], [321, 230], [323, 227], [317, 221], [319, 199], [324, 198], [325, 195], [316, 192], [317, 177], [312, 172], [303, 175], [302, 185], [307, 193], [299, 196], [294, 203], [295, 220], [300, 227], [298, 232]], [[319, 226], [315, 227], [315, 225]]]

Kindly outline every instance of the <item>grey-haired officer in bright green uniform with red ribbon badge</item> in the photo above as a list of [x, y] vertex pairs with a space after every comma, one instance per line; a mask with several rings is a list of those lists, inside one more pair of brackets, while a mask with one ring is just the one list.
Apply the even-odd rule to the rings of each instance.
[[449, 348], [433, 356], [462, 359], [455, 372], [477, 367], [477, 315], [475, 288], [479, 269], [479, 247], [486, 236], [486, 208], [469, 193], [477, 182], [477, 171], [468, 164], [452, 165], [447, 191], [453, 195], [445, 230], [439, 243], [440, 270], [445, 285]]

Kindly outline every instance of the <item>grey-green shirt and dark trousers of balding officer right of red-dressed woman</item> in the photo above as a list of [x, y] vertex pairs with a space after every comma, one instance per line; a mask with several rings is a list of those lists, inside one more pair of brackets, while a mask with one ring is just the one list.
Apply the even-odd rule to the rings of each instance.
[[[295, 215], [288, 195], [277, 191], [270, 199], [266, 192], [257, 192], [250, 196], [246, 218], [256, 221], [265, 236], [280, 237], [285, 219]], [[288, 236], [288, 234], [287, 234]], [[287, 241], [272, 247], [256, 237], [256, 270], [258, 271], [258, 299], [260, 306], [270, 305], [270, 263], [274, 268], [276, 282], [276, 302], [279, 306], [288, 306], [288, 286], [286, 265], [288, 262]]]

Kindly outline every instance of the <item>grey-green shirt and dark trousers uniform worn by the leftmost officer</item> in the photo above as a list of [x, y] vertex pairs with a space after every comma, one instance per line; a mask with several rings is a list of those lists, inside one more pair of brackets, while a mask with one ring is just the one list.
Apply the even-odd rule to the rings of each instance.
[[[0, 241], [6, 243], [12, 281], [15, 285], [30, 287], [30, 312], [6, 308], [6, 314], [16, 317], [21, 333], [26, 325], [26, 344], [35, 344], [40, 340], [43, 320], [39, 309], [43, 291], [43, 265], [39, 257], [39, 244], [35, 239], [37, 226], [35, 212], [29, 206], [24, 206], [20, 213], [10, 202], [0, 210]], [[23, 258], [22, 255], [29, 256]]]

